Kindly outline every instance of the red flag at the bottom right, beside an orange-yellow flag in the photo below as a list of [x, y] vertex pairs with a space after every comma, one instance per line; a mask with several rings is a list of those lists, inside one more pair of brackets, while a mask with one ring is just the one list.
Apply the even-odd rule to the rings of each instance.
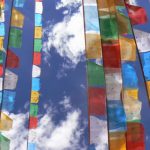
[[128, 123], [126, 138], [128, 150], [145, 150], [144, 127], [141, 123]]

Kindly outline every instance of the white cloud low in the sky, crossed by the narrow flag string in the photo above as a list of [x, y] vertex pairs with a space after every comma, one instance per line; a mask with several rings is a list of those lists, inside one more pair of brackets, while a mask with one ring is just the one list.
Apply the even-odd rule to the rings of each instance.
[[29, 142], [36, 143], [37, 150], [86, 149], [84, 144], [80, 144], [85, 129], [85, 126], [81, 125], [81, 122], [84, 122], [84, 119], [81, 121], [81, 111], [72, 107], [67, 96], [60, 102], [60, 107], [68, 110], [64, 120], [56, 124], [53, 119], [54, 110], [49, 106], [44, 115], [39, 114], [38, 128], [29, 130], [29, 134], [26, 128], [28, 114], [10, 114], [13, 129], [4, 132], [11, 140], [10, 150], [26, 150], [27, 138]]

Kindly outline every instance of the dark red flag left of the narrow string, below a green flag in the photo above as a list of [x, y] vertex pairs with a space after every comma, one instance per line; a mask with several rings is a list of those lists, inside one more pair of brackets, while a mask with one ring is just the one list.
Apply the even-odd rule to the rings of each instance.
[[19, 57], [11, 50], [7, 51], [7, 68], [17, 68], [19, 66]]

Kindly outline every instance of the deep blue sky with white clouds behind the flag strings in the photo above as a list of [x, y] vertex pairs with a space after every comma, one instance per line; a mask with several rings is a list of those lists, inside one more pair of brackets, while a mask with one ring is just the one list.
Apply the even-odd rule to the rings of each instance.
[[[43, 1], [44, 47], [41, 66], [39, 128], [37, 130], [37, 143], [40, 143], [38, 148], [57, 150], [61, 147], [66, 150], [86, 150], [86, 145], [88, 145], [88, 104], [81, 0]], [[7, 7], [10, 8], [11, 1], [6, 0], [6, 3]], [[148, 0], [140, 4], [145, 6], [149, 12], [147, 3]], [[6, 10], [7, 31], [9, 10]], [[16, 147], [25, 150], [27, 145], [34, 1], [26, 0], [22, 12], [25, 15], [23, 45], [21, 50], [14, 50], [20, 57], [20, 67], [15, 70], [19, 76], [15, 109], [10, 114], [14, 118], [14, 129], [6, 133], [12, 139], [12, 150]], [[149, 23], [145, 28], [147, 32], [150, 30], [148, 26]], [[66, 46], [63, 44], [64, 40], [67, 41]], [[143, 103], [142, 123], [145, 127], [146, 149], [148, 149], [150, 147], [150, 116], [147, 114], [149, 114], [150, 109], [139, 66], [137, 61], [135, 68], [139, 77], [140, 100]], [[59, 141], [58, 145], [57, 142]]]

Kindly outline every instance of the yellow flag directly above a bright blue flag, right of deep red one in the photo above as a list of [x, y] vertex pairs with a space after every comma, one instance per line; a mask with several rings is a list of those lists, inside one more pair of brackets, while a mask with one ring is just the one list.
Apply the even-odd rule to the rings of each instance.
[[136, 60], [136, 44], [134, 39], [119, 37], [121, 59], [126, 61]]

